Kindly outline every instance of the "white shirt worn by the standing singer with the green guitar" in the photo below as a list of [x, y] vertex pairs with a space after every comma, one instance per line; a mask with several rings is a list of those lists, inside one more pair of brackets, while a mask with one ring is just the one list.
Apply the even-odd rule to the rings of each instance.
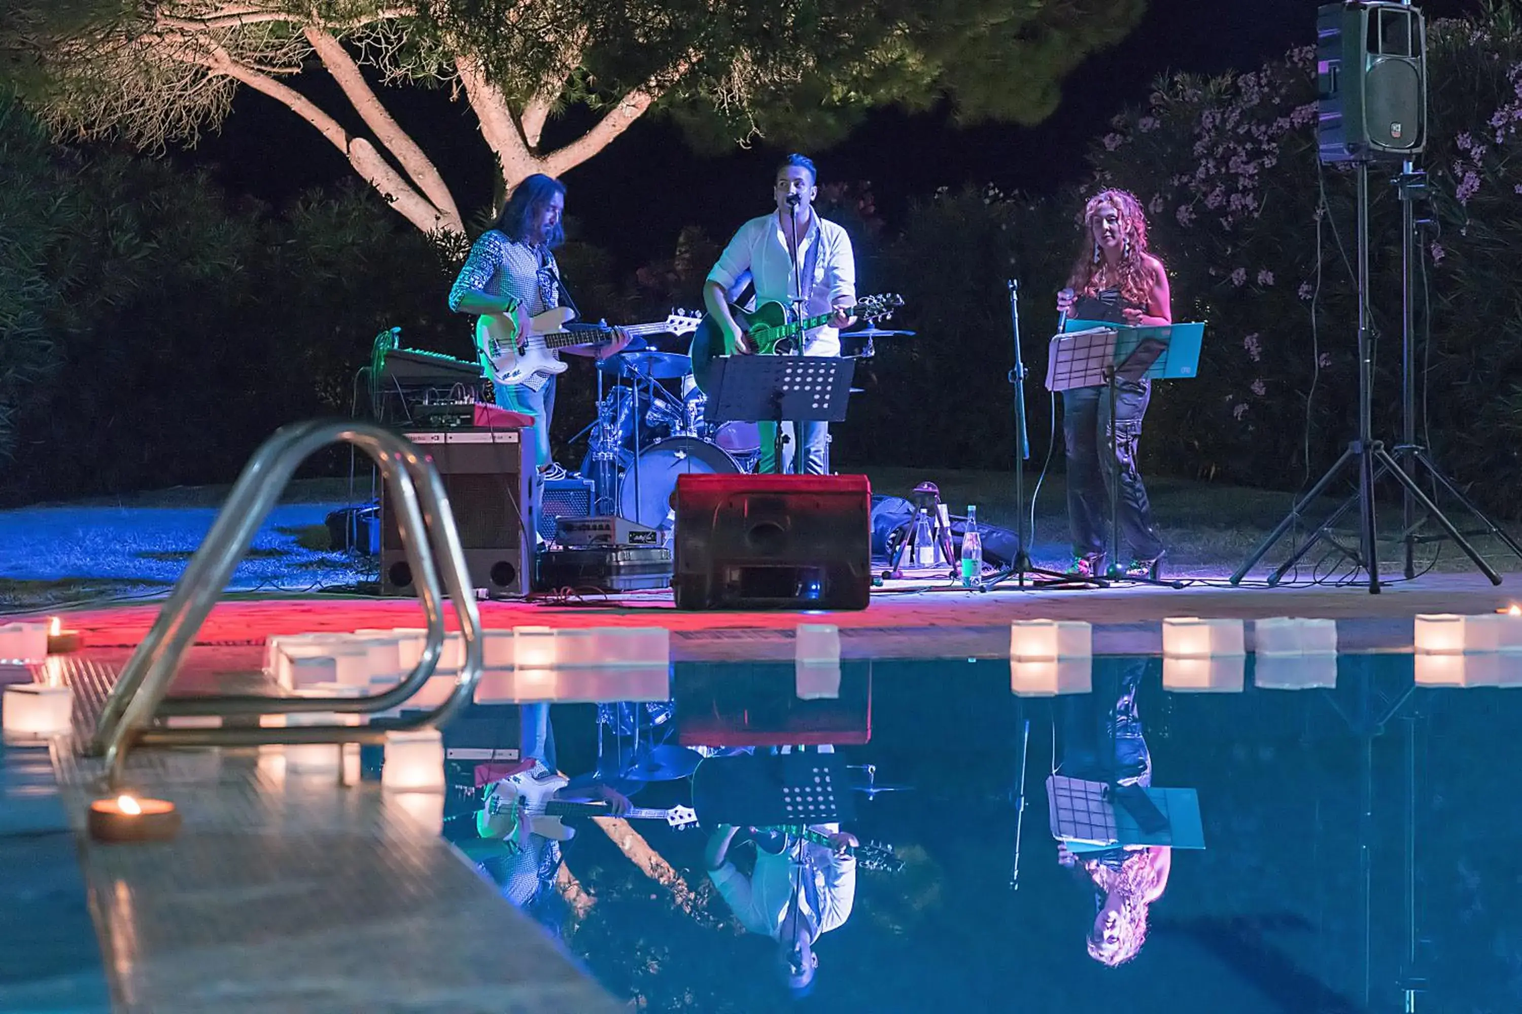
[[[813, 225], [804, 234], [804, 242], [798, 248], [799, 268], [808, 263], [810, 248], [819, 243], [819, 254], [814, 257], [813, 283], [804, 278], [804, 292], [808, 303], [804, 304], [805, 316], [829, 313], [836, 299], [846, 296], [855, 301], [855, 252], [851, 249], [851, 237], [834, 222], [826, 222], [817, 213], [811, 214]], [[793, 258], [787, 251], [787, 236], [782, 233], [782, 219], [776, 211], [750, 219], [740, 227], [729, 246], [718, 255], [718, 263], [708, 272], [709, 281], [717, 281], [734, 296], [744, 287], [746, 278], [755, 283], [756, 303], [781, 303], [788, 310], [793, 309], [796, 293]], [[816, 327], [808, 331], [804, 345], [807, 356], [839, 356], [840, 331], [833, 327]]]

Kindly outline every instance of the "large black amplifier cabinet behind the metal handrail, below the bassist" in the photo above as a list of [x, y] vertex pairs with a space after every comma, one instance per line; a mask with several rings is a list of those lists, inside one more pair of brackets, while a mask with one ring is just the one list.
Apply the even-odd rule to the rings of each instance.
[[[470, 587], [493, 597], [527, 594], [534, 549], [533, 430], [455, 429], [406, 438], [434, 462], [444, 483]], [[416, 594], [390, 497], [391, 490], [382, 488], [380, 591]]]

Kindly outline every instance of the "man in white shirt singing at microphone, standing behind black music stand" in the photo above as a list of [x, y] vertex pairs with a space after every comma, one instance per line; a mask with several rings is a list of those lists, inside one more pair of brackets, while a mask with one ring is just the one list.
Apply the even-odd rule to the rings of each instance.
[[[729, 299], [746, 281], [755, 284], [755, 303], [781, 303], [793, 310], [802, 299], [802, 315], [831, 315], [829, 321], [808, 331], [805, 356], [839, 356], [840, 328], [855, 318], [846, 310], [855, 304], [855, 254], [851, 237], [834, 222], [814, 214], [819, 175], [804, 155], [788, 155], [778, 166], [772, 198], [776, 210], [740, 227], [708, 272], [703, 303], [724, 336], [724, 354], [752, 351], [729, 312]], [[829, 424], [799, 423], [807, 448], [804, 471], [822, 476], [829, 470]], [[776, 426], [761, 423], [761, 458], [756, 471], [778, 471]], [[793, 429], [788, 426], [788, 429]], [[784, 447], [782, 470], [791, 471], [793, 444]]]

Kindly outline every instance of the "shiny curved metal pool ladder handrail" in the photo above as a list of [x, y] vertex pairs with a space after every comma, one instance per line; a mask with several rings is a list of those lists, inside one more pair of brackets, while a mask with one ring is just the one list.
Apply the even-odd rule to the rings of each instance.
[[[254, 532], [274, 508], [286, 483], [314, 452], [333, 442], [355, 444], [380, 468], [394, 493], [402, 547], [428, 620], [428, 635], [417, 666], [400, 684], [361, 698], [269, 698], [221, 695], [164, 701], [180, 660], [227, 588]], [[422, 506], [419, 505], [422, 500]], [[455, 529], [449, 497], [432, 462], [406, 438], [371, 423], [317, 420], [280, 429], [254, 452], [227, 497], [212, 531], [175, 582], [152, 629], [113, 687], [96, 724], [90, 749], [107, 760], [113, 786], [120, 784], [126, 754], [134, 746], [250, 746], [260, 743], [377, 743], [387, 728], [367, 725], [297, 725], [239, 728], [151, 727], [164, 715], [280, 715], [295, 711], [368, 713], [393, 708], [411, 698], [434, 675], [444, 643], [435, 556], [443, 556], [443, 578], [466, 640], [464, 666], [455, 689], [435, 708], [388, 724], [390, 730], [431, 728], [447, 721], [475, 693], [481, 677], [481, 617], [470, 588], [464, 550]]]

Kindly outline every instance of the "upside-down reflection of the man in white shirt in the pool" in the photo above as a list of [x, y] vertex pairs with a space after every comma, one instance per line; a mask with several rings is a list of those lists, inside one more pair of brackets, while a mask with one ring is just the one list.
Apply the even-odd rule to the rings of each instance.
[[794, 996], [807, 996], [819, 955], [814, 941], [851, 918], [855, 903], [855, 836], [839, 824], [813, 830], [829, 845], [787, 836], [781, 851], [756, 845], [755, 870], [746, 877], [729, 862], [729, 844], [740, 829], [720, 824], [708, 842], [708, 876], [749, 932], [778, 943], [779, 970]]

